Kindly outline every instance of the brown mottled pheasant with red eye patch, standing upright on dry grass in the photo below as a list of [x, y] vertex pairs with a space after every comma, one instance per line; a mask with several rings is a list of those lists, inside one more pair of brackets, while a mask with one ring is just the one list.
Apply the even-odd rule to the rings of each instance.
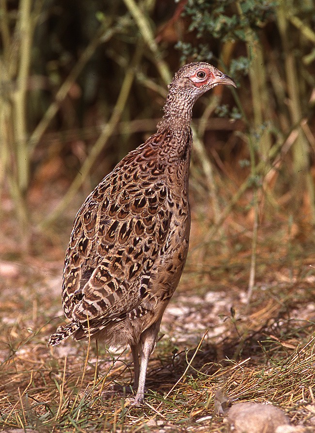
[[179, 69], [157, 132], [87, 197], [66, 251], [62, 302], [70, 323], [59, 326], [48, 343], [73, 336], [129, 344], [134, 404], [143, 402], [149, 357], [188, 252], [192, 107], [218, 84], [236, 87], [208, 63]]

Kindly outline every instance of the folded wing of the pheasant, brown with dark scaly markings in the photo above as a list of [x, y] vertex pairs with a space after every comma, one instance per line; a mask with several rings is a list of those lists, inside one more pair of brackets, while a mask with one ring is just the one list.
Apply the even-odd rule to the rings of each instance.
[[173, 214], [154, 152], [147, 146], [127, 155], [79, 210], [63, 275], [68, 318], [126, 317], [150, 297], [151, 269]]

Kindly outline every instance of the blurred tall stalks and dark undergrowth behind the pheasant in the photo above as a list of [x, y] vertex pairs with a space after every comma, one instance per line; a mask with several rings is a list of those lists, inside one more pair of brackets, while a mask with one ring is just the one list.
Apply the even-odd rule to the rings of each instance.
[[314, 229], [314, 28], [313, 0], [0, 0], [2, 253], [68, 235], [86, 195], [156, 130], [173, 73], [206, 61], [237, 89], [194, 109], [199, 257], [246, 226], [253, 283], [259, 227], [303, 242]]

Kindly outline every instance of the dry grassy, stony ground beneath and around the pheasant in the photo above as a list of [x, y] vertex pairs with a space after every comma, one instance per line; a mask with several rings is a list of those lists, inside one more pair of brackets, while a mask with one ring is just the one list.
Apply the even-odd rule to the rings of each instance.
[[143, 407], [128, 403], [128, 351], [113, 354], [100, 345], [97, 354], [94, 342], [72, 340], [47, 348], [48, 335], [63, 321], [63, 250], [51, 248], [46, 260], [7, 257], [0, 263], [1, 430], [225, 432], [215, 413], [215, 392], [222, 387], [238, 401], [271, 402], [293, 424], [314, 426], [313, 244], [288, 239], [284, 225], [262, 225], [247, 306], [247, 222], [238, 231], [234, 224], [227, 250], [213, 242], [199, 264], [205, 226], [204, 211], [197, 210], [189, 261], [150, 360]]

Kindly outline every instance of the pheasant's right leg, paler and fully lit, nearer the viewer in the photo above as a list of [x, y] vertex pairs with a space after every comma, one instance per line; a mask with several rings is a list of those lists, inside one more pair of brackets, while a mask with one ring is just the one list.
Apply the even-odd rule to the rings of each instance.
[[140, 343], [139, 343], [139, 349], [140, 349], [139, 384], [138, 384], [138, 390], [133, 404], [139, 404], [143, 402], [146, 371], [148, 368], [150, 355], [155, 346], [160, 323], [161, 323], [161, 318], [158, 320], [158, 322], [151, 325], [148, 329], [143, 331], [141, 334]]

